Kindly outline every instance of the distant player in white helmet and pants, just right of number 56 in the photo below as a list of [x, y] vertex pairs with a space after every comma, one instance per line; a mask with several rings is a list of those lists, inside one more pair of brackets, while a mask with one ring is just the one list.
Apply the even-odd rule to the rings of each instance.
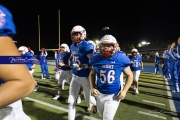
[[130, 69], [133, 72], [133, 84], [134, 84], [135, 94], [139, 94], [138, 81], [141, 70], [144, 69], [142, 57], [138, 54], [138, 50], [134, 48], [131, 50], [131, 55], [129, 56], [129, 59], [131, 62]]

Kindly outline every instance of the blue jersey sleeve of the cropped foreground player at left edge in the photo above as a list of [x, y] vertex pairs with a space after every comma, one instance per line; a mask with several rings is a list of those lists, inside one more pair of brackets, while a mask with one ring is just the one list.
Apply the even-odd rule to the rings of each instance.
[[16, 34], [16, 28], [10, 11], [0, 5], [0, 36], [13, 37]]

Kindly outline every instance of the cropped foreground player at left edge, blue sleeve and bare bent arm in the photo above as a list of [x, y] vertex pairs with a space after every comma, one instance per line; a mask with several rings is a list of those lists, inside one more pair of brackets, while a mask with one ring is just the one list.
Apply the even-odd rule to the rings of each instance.
[[[15, 34], [12, 14], [0, 5], [0, 56], [20, 56], [13, 42]], [[30, 120], [21, 99], [32, 93], [35, 82], [26, 65], [0, 64], [0, 71], [0, 119]]]

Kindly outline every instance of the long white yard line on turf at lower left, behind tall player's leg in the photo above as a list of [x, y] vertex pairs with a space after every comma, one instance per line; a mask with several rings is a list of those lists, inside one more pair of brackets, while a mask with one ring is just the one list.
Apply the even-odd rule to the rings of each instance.
[[[37, 102], [39, 104], [42, 104], [42, 105], [45, 105], [45, 106], [48, 106], [48, 107], [51, 107], [51, 108], [55, 108], [55, 109], [61, 110], [61, 111], [64, 111], [64, 112], [68, 112], [68, 109], [65, 109], [65, 108], [62, 108], [62, 107], [58, 107], [58, 106], [49, 104], [47, 102], [43, 102], [43, 101], [40, 101], [40, 100], [37, 100], [37, 99], [33, 99], [33, 98], [30, 98], [30, 97], [25, 97], [25, 99], [31, 100], [33, 102]], [[89, 119], [89, 120], [100, 120], [100, 119], [97, 119], [97, 118], [94, 118], [94, 117], [91, 117], [91, 116], [87, 116], [87, 115], [84, 115], [84, 114], [81, 114], [81, 113], [77, 113], [76, 116], [82, 116], [83, 118], [86, 118], [86, 119]]]

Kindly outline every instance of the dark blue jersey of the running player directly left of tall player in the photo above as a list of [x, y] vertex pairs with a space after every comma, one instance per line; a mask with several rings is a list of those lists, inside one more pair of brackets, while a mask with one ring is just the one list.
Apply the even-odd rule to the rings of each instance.
[[[68, 64], [68, 60], [69, 60], [70, 56], [71, 56], [70, 52], [65, 52], [65, 53], [60, 52], [57, 55], [57, 58], [56, 58], [56, 65], [58, 65], [59, 62], [62, 62], [64, 64]], [[62, 70], [71, 70], [71, 67], [61, 66], [60, 69], [62, 69]]]

